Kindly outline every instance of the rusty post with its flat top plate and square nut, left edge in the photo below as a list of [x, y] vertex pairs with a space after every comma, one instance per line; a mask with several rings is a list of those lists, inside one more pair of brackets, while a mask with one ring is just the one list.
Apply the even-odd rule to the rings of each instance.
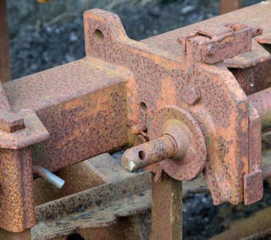
[[22, 232], [35, 223], [30, 146], [48, 139], [49, 134], [34, 113], [27, 116], [7, 114], [4, 110], [1, 113], [0, 227]]

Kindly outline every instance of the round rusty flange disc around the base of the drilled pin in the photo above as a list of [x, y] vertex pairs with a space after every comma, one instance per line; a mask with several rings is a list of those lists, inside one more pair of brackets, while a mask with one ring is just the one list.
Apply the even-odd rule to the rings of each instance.
[[176, 141], [180, 151], [171, 159], [165, 159], [148, 167], [150, 171], [163, 169], [176, 180], [196, 178], [204, 169], [207, 149], [200, 126], [189, 112], [176, 106], [160, 108], [150, 126], [150, 140], [169, 134]]

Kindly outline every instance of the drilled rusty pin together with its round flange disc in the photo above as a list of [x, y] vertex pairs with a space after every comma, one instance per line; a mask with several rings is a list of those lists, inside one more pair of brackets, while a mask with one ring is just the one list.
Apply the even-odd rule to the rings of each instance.
[[189, 112], [176, 106], [160, 108], [149, 132], [152, 141], [126, 150], [121, 158], [123, 167], [134, 171], [150, 166], [156, 181], [163, 171], [176, 180], [198, 176], [206, 163], [207, 151], [200, 127]]

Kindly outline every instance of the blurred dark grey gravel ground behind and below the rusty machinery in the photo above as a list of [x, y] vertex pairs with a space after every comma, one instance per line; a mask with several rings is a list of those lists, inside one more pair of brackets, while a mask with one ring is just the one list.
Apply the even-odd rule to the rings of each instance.
[[[119, 14], [130, 38], [141, 40], [220, 14], [220, 1], [8, 1], [12, 77], [84, 57], [82, 12], [104, 8]], [[244, 5], [257, 1], [244, 1]], [[184, 239], [208, 239], [233, 219], [271, 206], [270, 190], [261, 202], [244, 207], [213, 206], [209, 194], [189, 195], [183, 208]]]

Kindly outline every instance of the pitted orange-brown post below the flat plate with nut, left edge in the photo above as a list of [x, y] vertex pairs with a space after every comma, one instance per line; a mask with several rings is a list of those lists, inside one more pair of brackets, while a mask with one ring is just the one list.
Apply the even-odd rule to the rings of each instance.
[[0, 149], [0, 227], [22, 232], [35, 224], [30, 147]]

